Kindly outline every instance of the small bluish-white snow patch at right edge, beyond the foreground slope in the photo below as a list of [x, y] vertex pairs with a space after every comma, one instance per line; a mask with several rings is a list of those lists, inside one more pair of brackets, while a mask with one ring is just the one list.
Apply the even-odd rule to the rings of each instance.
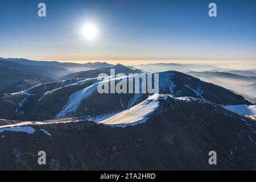
[[234, 113], [256, 116], [256, 105], [229, 105], [223, 107]]

